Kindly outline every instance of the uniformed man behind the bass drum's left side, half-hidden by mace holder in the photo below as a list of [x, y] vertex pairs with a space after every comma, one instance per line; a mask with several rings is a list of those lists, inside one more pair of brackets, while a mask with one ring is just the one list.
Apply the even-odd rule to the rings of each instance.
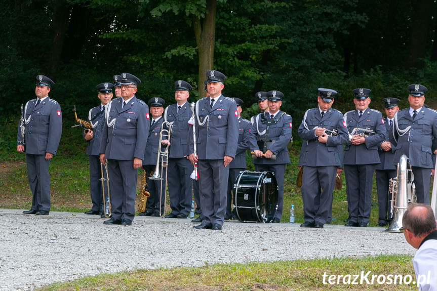
[[[229, 164], [229, 179], [227, 182], [227, 206], [225, 219], [235, 218], [235, 214], [232, 212], [232, 189], [235, 183], [235, 179], [240, 172], [246, 170], [246, 150], [251, 151], [258, 149], [255, 136], [250, 133], [252, 124], [249, 120], [241, 118], [241, 112], [243, 111], [243, 100], [240, 98], [233, 98], [236, 103], [236, 110], [238, 112], [238, 124], [239, 135], [238, 145], [235, 153], [235, 158]], [[234, 197], [235, 199], [235, 197]]]

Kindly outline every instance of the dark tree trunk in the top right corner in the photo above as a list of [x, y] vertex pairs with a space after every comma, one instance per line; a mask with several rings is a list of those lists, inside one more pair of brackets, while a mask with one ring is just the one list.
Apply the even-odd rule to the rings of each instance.
[[407, 66], [409, 68], [414, 67], [420, 69], [424, 65], [423, 59], [426, 57], [432, 1], [433, 0], [419, 0], [414, 5], [415, 9], [407, 58]]

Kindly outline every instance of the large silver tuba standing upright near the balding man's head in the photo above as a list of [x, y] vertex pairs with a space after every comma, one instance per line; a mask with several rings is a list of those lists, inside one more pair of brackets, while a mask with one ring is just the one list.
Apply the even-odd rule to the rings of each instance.
[[416, 202], [416, 186], [414, 185], [414, 175], [408, 157], [403, 154], [396, 170], [398, 175], [390, 179], [391, 193], [391, 212], [389, 214], [392, 221], [385, 231], [401, 232], [402, 217], [407, 206]]

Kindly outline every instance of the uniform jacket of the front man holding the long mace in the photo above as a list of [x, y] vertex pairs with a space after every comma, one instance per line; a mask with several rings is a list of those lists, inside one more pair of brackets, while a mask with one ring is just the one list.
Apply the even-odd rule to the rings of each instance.
[[[225, 155], [235, 157], [239, 131], [236, 103], [223, 95], [216, 100], [213, 108], [210, 107], [209, 97], [198, 100], [195, 105], [199, 159], [223, 159]], [[189, 139], [190, 152], [193, 153], [192, 132]]]

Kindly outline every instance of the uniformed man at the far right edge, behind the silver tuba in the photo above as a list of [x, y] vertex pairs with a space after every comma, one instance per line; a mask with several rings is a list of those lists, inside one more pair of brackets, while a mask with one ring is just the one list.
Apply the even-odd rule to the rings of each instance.
[[410, 107], [394, 115], [389, 130], [390, 142], [396, 145], [393, 164], [398, 164], [401, 155], [407, 155], [414, 174], [417, 202], [429, 204], [429, 183], [435, 162], [432, 154], [437, 153], [437, 112], [423, 105], [425, 86], [412, 84], [408, 91]]

